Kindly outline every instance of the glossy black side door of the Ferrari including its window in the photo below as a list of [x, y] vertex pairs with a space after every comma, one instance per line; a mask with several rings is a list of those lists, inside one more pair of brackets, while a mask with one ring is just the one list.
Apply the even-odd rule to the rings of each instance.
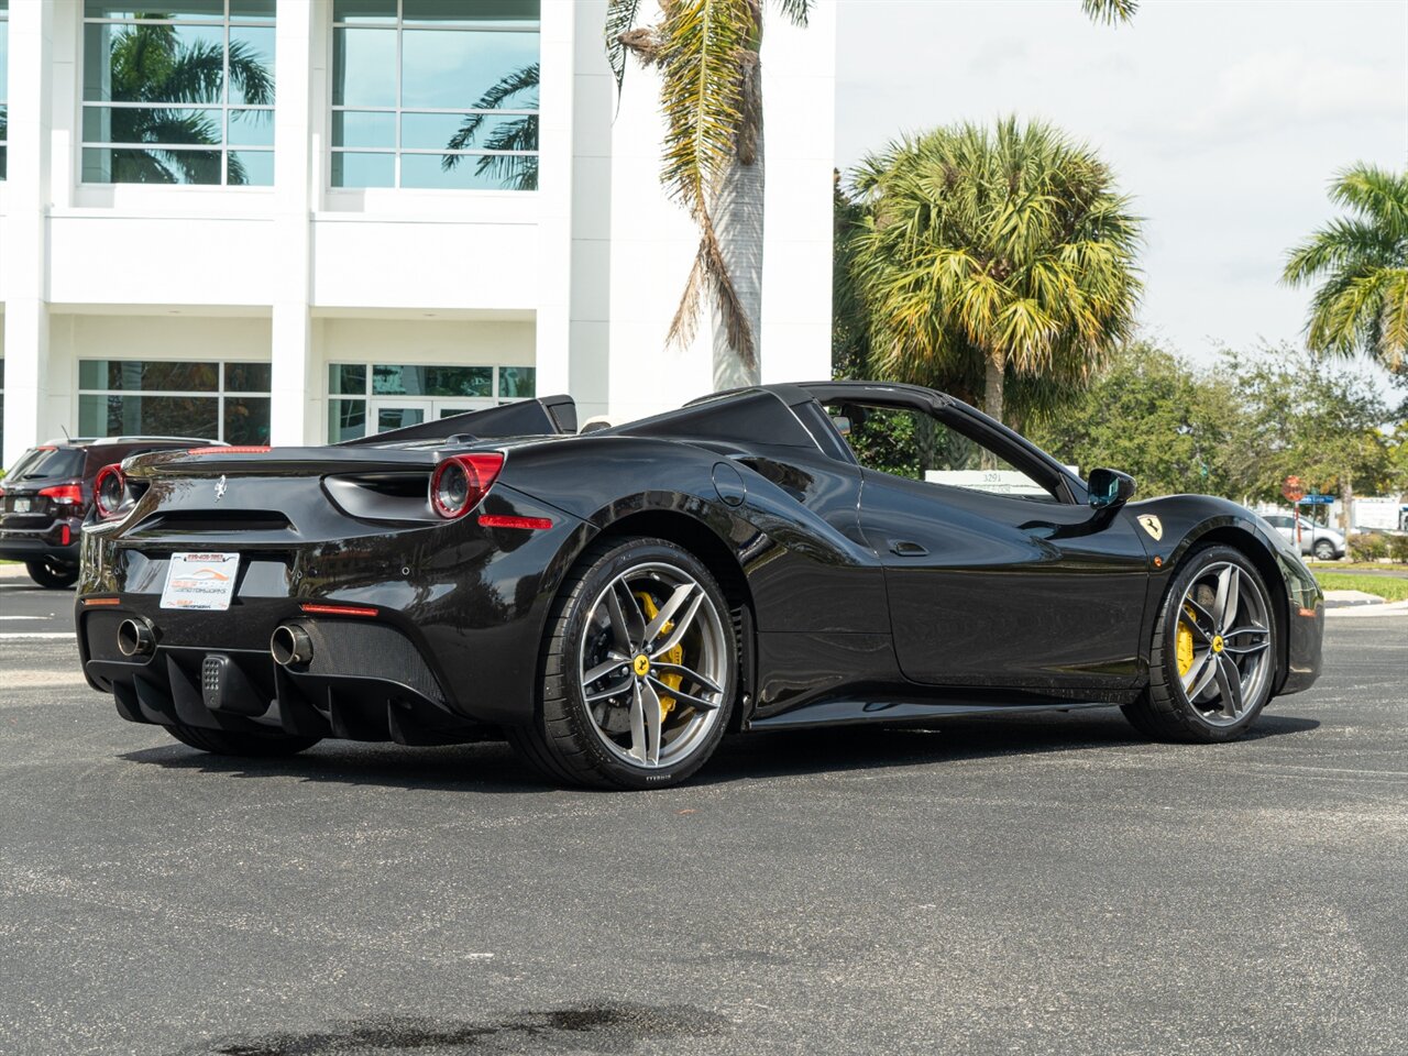
[[1022, 446], [960, 431], [960, 411], [834, 410], [863, 466], [862, 525], [907, 677], [1036, 691], [1136, 679], [1149, 558], [1131, 515], [1077, 504]]

